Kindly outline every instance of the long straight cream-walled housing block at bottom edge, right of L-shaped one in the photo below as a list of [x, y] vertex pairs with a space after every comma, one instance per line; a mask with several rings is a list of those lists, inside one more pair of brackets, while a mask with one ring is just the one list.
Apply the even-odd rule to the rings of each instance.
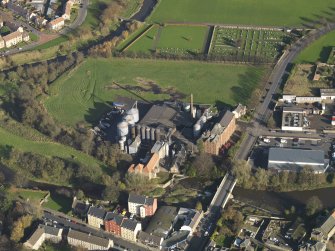
[[97, 237], [91, 234], [69, 230], [67, 241], [71, 246], [82, 247], [88, 250], [109, 250], [113, 247], [113, 241]]

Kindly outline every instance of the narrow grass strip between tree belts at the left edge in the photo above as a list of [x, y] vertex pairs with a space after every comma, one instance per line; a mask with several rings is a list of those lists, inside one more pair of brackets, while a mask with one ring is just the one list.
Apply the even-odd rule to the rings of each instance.
[[73, 159], [85, 165], [98, 168], [101, 163], [93, 157], [77, 151], [71, 147], [55, 142], [32, 141], [12, 134], [0, 127], [0, 144], [10, 145], [21, 151], [34, 152], [45, 156], [57, 156], [64, 159]]

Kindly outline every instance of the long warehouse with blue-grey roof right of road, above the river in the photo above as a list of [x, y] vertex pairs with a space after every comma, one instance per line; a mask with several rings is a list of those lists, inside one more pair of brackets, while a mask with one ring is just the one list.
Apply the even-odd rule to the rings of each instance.
[[292, 148], [270, 148], [268, 168], [277, 171], [297, 172], [309, 167], [314, 173], [324, 173], [328, 163], [324, 151]]

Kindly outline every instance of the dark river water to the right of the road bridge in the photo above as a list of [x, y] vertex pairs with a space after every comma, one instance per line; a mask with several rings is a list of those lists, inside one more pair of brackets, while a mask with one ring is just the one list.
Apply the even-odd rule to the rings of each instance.
[[303, 208], [307, 200], [312, 196], [317, 196], [325, 208], [335, 208], [335, 188], [294, 192], [270, 192], [235, 187], [233, 196], [237, 200], [276, 211], [283, 211], [292, 205], [296, 208]]

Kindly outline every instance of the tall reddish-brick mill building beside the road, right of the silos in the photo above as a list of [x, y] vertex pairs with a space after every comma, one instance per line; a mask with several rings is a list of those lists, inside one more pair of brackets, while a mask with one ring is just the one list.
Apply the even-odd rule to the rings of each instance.
[[230, 111], [226, 111], [220, 121], [214, 125], [213, 129], [203, 134], [204, 151], [219, 155], [221, 147], [229, 141], [235, 129], [235, 115]]

